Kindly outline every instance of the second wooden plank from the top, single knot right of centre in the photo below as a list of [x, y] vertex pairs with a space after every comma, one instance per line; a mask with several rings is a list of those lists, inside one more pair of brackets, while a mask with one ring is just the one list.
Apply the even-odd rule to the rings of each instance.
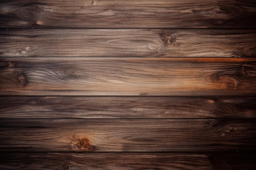
[[8, 29], [2, 57], [254, 57], [248, 29]]

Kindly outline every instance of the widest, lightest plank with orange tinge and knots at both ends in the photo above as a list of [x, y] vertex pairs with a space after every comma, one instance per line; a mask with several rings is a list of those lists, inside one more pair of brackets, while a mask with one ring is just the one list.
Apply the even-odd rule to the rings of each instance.
[[0, 59], [0, 95], [256, 95], [256, 58]]

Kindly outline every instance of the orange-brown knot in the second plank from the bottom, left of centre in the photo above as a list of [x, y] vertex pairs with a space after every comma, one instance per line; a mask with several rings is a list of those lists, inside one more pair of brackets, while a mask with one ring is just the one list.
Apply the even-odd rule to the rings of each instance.
[[80, 152], [90, 152], [96, 149], [95, 146], [92, 146], [90, 144], [89, 139], [87, 139], [86, 137], [75, 139], [74, 141], [72, 141], [72, 147], [74, 150]]

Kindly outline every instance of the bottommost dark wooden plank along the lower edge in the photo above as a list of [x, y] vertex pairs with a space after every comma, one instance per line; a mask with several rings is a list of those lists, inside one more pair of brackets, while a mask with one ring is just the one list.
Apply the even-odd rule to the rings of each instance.
[[4, 170], [255, 170], [251, 153], [0, 153]]

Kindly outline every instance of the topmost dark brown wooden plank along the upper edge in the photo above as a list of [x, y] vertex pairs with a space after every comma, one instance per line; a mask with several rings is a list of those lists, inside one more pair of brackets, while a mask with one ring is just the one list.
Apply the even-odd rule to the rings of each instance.
[[254, 0], [1, 0], [0, 28], [255, 28]]

